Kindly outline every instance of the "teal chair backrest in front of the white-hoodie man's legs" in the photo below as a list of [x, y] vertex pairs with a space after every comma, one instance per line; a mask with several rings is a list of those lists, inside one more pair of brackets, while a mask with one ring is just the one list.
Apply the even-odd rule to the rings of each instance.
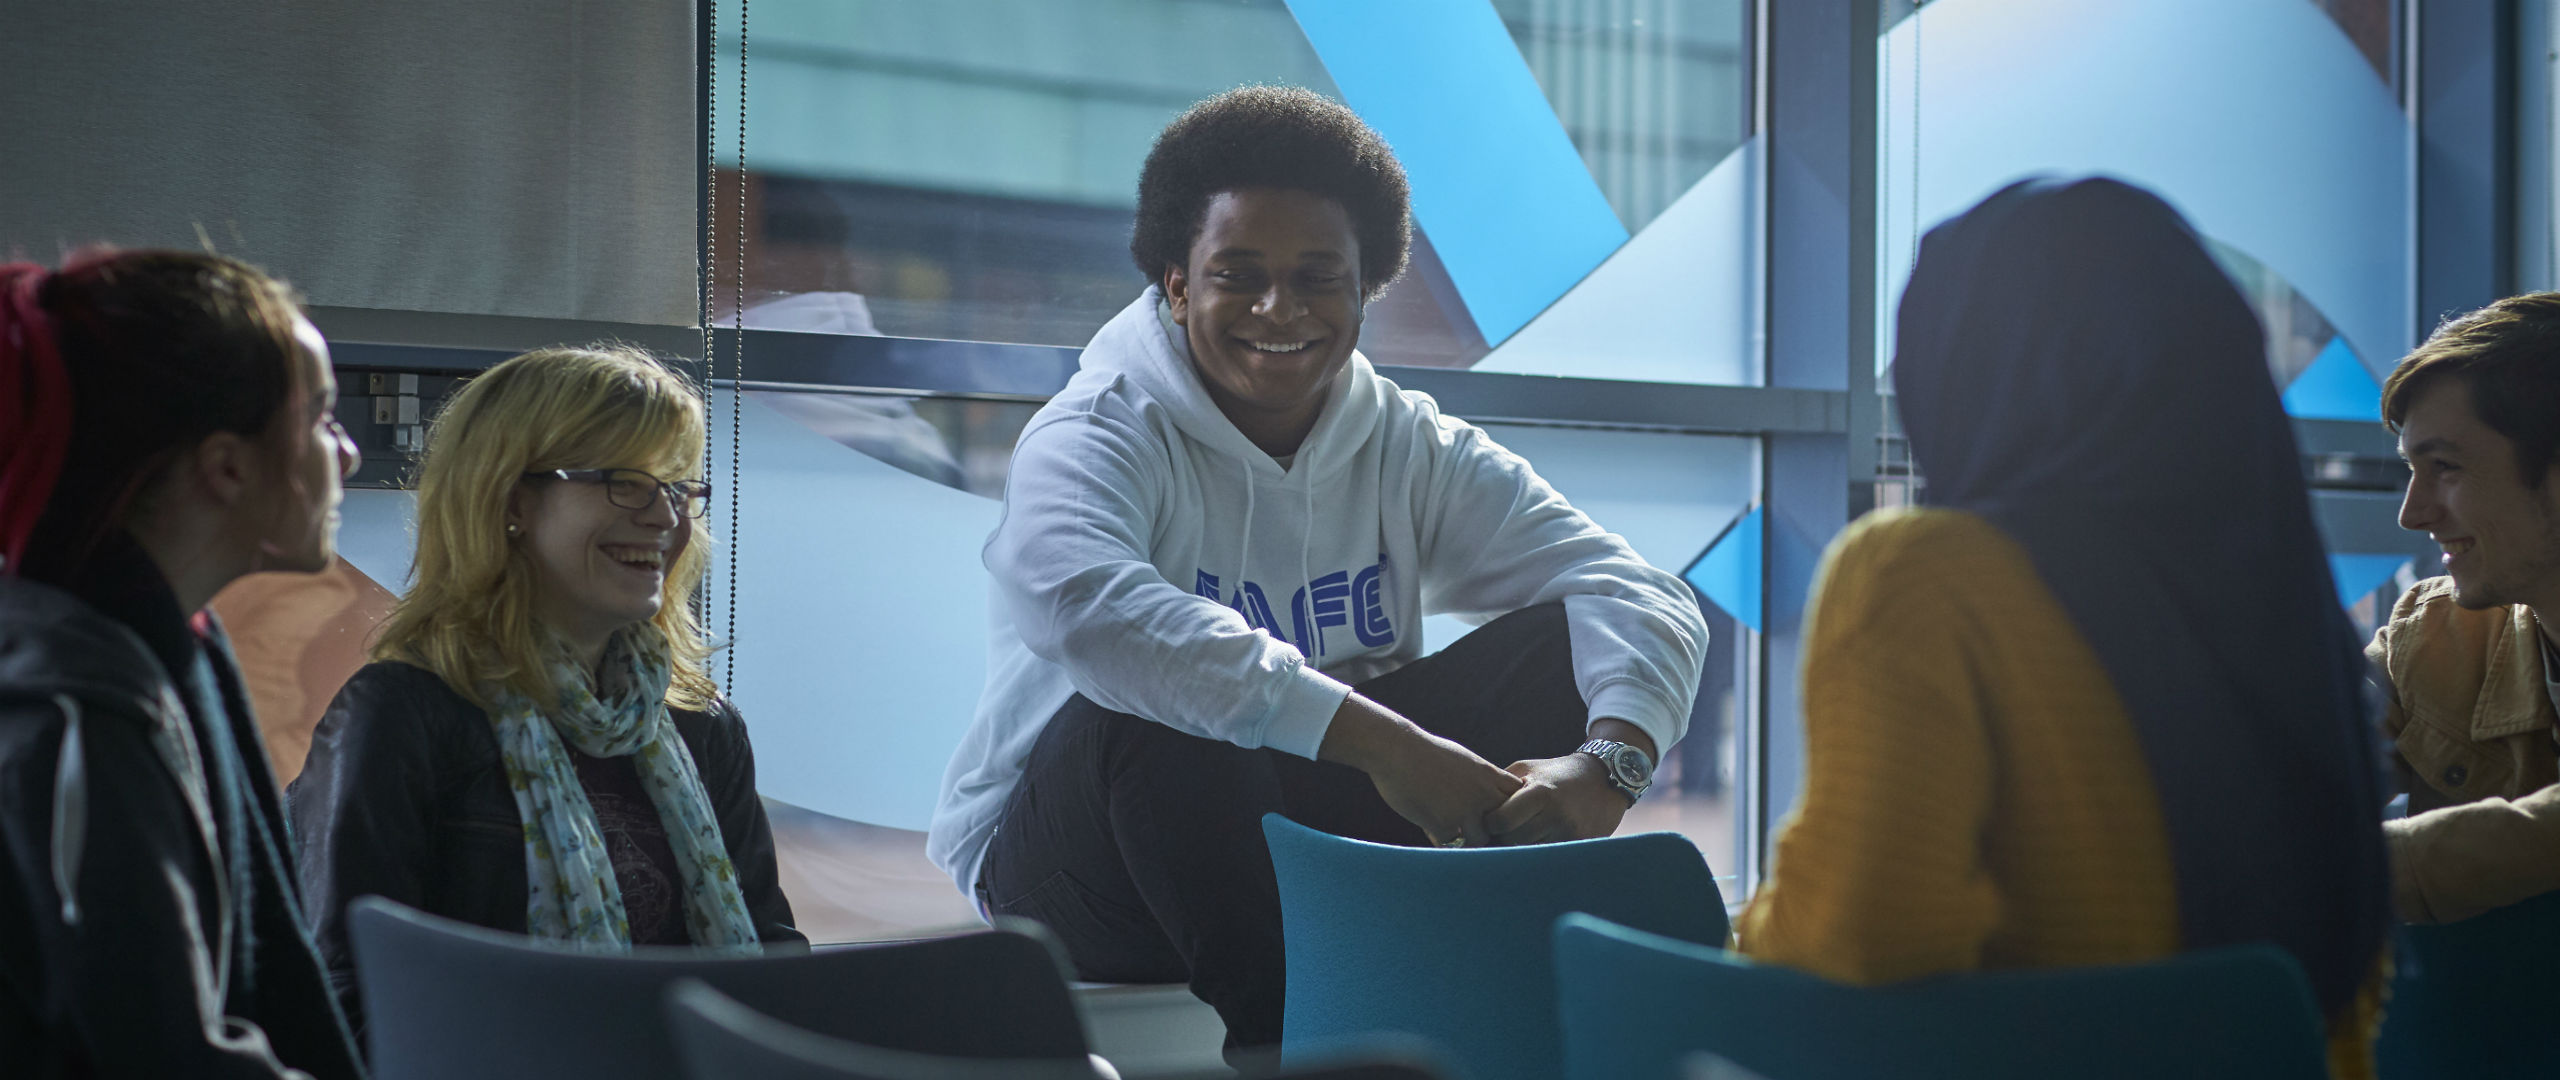
[[1262, 819], [1280, 875], [1288, 1011], [1280, 1052], [1400, 1031], [1475, 1080], [1562, 1067], [1549, 939], [1590, 911], [1723, 944], [1725, 906], [1697, 845], [1669, 832], [1533, 847], [1390, 847]]

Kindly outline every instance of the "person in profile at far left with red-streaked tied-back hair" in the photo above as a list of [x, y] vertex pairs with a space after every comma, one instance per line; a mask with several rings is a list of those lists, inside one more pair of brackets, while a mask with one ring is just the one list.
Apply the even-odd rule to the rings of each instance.
[[330, 563], [335, 399], [246, 264], [0, 266], [0, 1075], [364, 1072], [205, 612]]

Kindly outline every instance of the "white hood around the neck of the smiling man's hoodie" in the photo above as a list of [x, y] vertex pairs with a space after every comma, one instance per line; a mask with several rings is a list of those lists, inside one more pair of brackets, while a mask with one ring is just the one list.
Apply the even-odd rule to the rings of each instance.
[[1190, 363], [1190, 340], [1162, 312], [1165, 289], [1149, 284], [1093, 335], [1093, 343], [1085, 345], [1083, 371], [1129, 379], [1167, 409], [1185, 438], [1216, 456], [1236, 458], [1257, 476], [1288, 473], [1300, 484], [1331, 476], [1359, 456], [1362, 443], [1377, 427], [1385, 397], [1395, 394], [1395, 386], [1377, 376], [1370, 358], [1352, 351], [1324, 397], [1316, 427], [1306, 433], [1306, 443], [1298, 443], [1290, 466], [1280, 468], [1270, 453], [1236, 430], [1234, 420], [1226, 420], [1226, 412], [1219, 412], [1219, 402], [1208, 397], [1201, 371]]

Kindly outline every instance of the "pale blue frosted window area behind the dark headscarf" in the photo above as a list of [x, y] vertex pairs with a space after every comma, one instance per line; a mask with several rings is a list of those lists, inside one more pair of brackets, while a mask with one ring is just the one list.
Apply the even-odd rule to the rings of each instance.
[[2412, 343], [2409, 123], [2317, 5], [1938, 0], [1882, 51], [1887, 305], [1915, 233], [2020, 177], [2097, 171], [2271, 266], [2358, 353]]

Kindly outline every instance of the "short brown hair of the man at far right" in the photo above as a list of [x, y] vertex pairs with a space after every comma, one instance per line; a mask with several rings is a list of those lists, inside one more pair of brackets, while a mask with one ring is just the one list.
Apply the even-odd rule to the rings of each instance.
[[2394, 433], [2427, 386], [2460, 379], [2470, 412], [2516, 443], [2524, 486], [2560, 461], [2560, 292], [2527, 292], [2435, 328], [2383, 381], [2383, 425]]

